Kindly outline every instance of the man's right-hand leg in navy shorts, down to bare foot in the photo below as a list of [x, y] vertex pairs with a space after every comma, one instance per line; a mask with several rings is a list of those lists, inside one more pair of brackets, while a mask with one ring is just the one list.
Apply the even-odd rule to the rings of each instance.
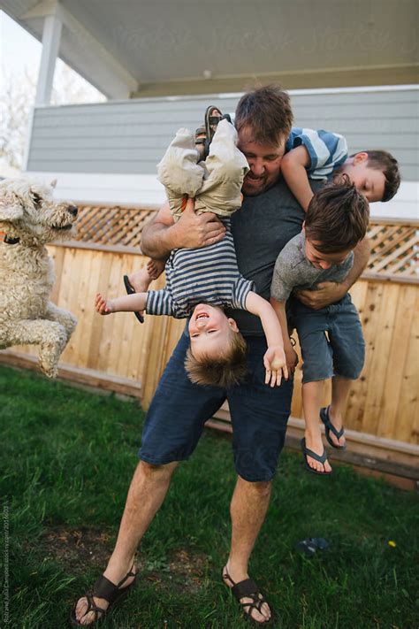
[[[293, 395], [292, 381], [283, 380], [280, 387], [264, 384], [266, 341], [263, 337], [250, 337], [247, 341], [248, 377], [228, 394], [234, 464], [239, 475], [231, 504], [232, 546], [223, 571], [229, 587], [232, 582], [248, 579], [248, 560], [270, 502], [271, 479], [284, 445]], [[260, 611], [246, 607], [247, 602], [252, 600], [240, 598], [244, 612], [256, 622], [263, 624], [270, 618], [266, 602]]]

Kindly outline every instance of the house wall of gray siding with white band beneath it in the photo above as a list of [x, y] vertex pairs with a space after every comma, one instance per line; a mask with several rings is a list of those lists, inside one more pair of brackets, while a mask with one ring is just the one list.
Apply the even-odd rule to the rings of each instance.
[[[415, 218], [418, 198], [417, 86], [294, 90], [295, 124], [344, 134], [351, 151], [385, 149], [400, 161], [400, 192], [374, 216]], [[240, 94], [144, 98], [34, 110], [27, 172], [57, 178], [76, 202], [156, 204], [156, 163], [179, 127], [202, 124], [208, 104], [232, 112]]]

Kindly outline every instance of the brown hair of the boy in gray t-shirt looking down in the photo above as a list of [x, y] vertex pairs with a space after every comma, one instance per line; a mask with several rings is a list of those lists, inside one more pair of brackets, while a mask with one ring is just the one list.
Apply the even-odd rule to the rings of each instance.
[[309, 203], [304, 229], [320, 253], [354, 249], [369, 226], [369, 203], [343, 174], [317, 190]]

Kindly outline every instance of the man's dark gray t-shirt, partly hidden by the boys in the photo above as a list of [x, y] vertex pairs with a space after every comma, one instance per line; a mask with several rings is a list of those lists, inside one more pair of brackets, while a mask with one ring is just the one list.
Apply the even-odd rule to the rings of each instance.
[[[323, 182], [310, 181], [313, 190]], [[270, 298], [270, 282], [278, 253], [301, 232], [305, 212], [281, 178], [257, 196], [245, 196], [232, 215], [232, 236], [240, 273], [255, 282], [255, 292]], [[263, 335], [258, 317], [247, 311], [226, 311], [242, 334]]]

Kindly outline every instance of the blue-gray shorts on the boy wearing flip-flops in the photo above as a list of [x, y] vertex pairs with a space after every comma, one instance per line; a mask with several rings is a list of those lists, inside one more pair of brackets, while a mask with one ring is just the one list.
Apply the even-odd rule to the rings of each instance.
[[291, 311], [300, 340], [304, 384], [332, 376], [359, 378], [365, 341], [350, 295], [318, 311], [293, 298]]

